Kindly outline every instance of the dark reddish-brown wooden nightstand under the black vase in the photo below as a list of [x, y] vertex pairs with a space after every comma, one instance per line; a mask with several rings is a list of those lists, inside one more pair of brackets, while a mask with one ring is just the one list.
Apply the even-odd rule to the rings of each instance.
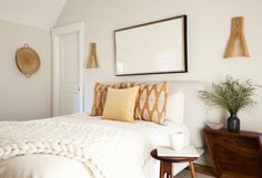
[[262, 134], [204, 128], [218, 178], [262, 178]]

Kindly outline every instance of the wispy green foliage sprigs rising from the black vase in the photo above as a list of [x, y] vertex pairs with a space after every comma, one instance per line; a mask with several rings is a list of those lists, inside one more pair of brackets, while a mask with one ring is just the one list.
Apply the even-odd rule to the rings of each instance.
[[242, 108], [252, 107], [256, 102], [252, 98], [255, 93], [255, 86], [250, 80], [241, 83], [226, 76], [225, 81], [212, 85], [212, 91], [200, 91], [200, 97], [210, 106], [222, 106], [231, 115], [236, 115]]

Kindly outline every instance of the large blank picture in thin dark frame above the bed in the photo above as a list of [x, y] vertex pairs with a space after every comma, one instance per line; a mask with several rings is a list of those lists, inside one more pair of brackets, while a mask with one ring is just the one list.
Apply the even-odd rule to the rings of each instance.
[[188, 72], [187, 15], [114, 31], [115, 75]]

